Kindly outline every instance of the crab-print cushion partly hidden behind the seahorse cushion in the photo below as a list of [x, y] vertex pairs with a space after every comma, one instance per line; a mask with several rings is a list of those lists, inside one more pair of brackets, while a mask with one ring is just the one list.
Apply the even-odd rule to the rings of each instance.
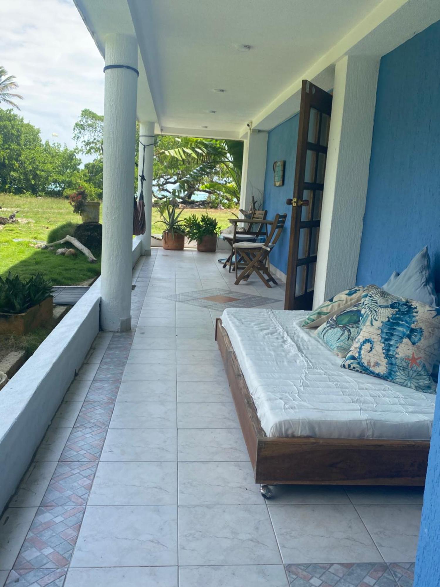
[[356, 338], [361, 319], [361, 302], [332, 316], [316, 330], [316, 336], [334, 352], [344, 358]]

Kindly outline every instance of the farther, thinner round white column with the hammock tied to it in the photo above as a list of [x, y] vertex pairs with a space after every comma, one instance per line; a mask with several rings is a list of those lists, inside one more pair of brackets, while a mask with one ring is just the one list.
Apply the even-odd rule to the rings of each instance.
[[[148, 145], [144, 151], [144, 145]], [[151, 206], [153, 204], [153, 156], [154, 156], [154, 122], [139, 123], [139, 156], [137, 196], [141, 193], [142, 158], [144, 157], [144, 202], [145, 233], [142, 237], [142, 254], [151, 255]]]

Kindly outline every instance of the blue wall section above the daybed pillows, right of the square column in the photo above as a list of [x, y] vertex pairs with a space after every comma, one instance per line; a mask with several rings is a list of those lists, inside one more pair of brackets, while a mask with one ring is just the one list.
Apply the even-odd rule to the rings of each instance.
[[425, 245], [440, 291], [440, 21], [381, 59], [357, 283]]

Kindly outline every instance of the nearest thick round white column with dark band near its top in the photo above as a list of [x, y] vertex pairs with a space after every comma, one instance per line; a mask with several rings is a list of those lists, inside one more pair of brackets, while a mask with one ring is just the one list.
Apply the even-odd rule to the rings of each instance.
[[[106, 37], [106, 66], [137, 70], [137, 41], [128, 35]], [[133, 168], [136, 140], [137, 73], [107, 69], [104, 86], [103, 247], [101, 328], [131, 328], [131, 247]]]

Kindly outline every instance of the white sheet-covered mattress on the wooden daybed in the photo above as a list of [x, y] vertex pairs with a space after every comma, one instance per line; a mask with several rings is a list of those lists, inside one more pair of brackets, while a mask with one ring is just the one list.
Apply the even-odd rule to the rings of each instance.
[[340, 367], [307, 312], [227, 309], [223, 326], [268, 436], [429, 440], [435, 395]]

